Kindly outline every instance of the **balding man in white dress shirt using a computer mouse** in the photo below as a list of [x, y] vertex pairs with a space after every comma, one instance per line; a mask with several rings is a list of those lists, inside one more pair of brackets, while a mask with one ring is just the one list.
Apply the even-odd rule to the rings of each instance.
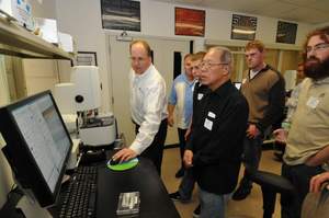
[[126, 161], [137, 156], [146, 157], [160, 174], [168, 126], [166, 82], [152, 65], [151, 49], [145, 41], [131, 43], [131, 113], [136, 138], [113, 158]]

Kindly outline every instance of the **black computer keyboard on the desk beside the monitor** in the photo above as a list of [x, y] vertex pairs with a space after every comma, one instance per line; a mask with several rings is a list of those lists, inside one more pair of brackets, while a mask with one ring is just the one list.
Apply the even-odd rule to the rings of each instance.
[[59, 217], [94, 218], [97, 202], [97, 167], [79, 167], [60, 196]]

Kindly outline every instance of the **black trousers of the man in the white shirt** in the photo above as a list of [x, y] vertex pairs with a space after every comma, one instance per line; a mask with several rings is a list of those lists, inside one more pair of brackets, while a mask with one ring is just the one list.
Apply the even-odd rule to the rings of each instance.
[[[136, 125], [135, 133], [137, 134], [140, 126], [137, 124], [135, 125]], [[140, 153], [141, 157], [148, 158], [154, 162], [159, 175], [161, 175], [161, 163], [162, 163], [164, 141], [167, 137], [167, 128], [168, 128], [168, 121], [167, 118], [164, 118], [161, 122], [159, 126], [159, 130], [155, 136], [151, 145]]]

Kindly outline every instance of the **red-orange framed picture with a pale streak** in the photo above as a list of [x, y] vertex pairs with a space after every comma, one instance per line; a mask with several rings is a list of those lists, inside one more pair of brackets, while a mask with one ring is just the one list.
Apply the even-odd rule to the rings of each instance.
[[204, 36], [205, 11], [174, 8], [174, 34]]

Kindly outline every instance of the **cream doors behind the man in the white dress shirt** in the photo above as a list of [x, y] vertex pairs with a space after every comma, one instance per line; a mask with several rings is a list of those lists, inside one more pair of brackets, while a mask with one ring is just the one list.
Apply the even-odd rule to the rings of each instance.
[[[190, 41], [158, 37], [134, 37], [133, 39], [144, 39], [150, 45], [154, 53], [154, 65], [166, 81], [168, 96], [174, 76], [174, 54], [181, 53], [181, 56], [184, 57], [190, 51]], [[135, 126], [132, 123], [129, 111], [129, 43], [118, 41], [114, 35], [109, 36], [109, 78], [111, 80], [109, 84], [112, 85], [110, 88], [113, 94], [112, 108], [117, 119], [118, 131], [124, 133], [127, 145], [135, 139]], [[181, 66], [183, 68], [183, 64]], [[177, 126], [168, 127], [164, 145], [175, 145], [178, 141]]]

